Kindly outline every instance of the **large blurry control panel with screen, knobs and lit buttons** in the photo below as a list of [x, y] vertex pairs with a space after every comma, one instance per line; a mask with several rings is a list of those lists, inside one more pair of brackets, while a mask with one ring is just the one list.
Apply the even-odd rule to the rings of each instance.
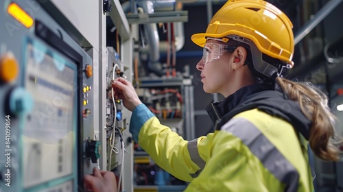
[[93, 60], [41, 5], [0, 2], [0, 191], [83, 190], [102, 152]]

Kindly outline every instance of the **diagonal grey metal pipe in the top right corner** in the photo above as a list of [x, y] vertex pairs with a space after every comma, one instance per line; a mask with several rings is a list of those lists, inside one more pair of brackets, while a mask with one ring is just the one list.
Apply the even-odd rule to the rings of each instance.
[[333, 9], [335, 9], [342, 0], [331, 0], [327, 2], [314, 16], [313, 19], [308, 21], [303, 27], [301, 27], [294, 38], [294, 45], [298, 44], [309, 32], [314, 29]]

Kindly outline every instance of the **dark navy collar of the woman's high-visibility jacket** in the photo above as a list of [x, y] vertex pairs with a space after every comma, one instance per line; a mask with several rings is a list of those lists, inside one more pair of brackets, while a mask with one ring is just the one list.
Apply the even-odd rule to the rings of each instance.
[[286, 99], [277, 86], [276, 90], [263, 84], [246, 86], [223, 101], [211, 104], [206, 110], [215, 129], [220, 130], [226, 121], [239, 112], [258, 108], [274, 117], [288, 121], [308, 140], [312, 121], [303, 114], [298, 101]]

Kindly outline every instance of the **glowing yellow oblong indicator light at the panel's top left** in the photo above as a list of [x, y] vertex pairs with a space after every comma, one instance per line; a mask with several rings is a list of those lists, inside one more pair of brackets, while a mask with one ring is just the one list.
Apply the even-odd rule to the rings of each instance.
[[27, 14], [16, 3], [10, 3], [7, 11], [10, 15], [12, 15], [16, 20], [22, 23], [25, 27], [31, 27], [34, 24], [34, 19], [32, 19], [32, 17], [29, 16], [29, 14]]

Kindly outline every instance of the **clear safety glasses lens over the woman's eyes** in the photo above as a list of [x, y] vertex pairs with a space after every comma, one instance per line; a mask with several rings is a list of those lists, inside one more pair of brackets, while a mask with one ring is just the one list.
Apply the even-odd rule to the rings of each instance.
[[228, 45], [221, 43], [206, 43], [202, 50], [202, 58], [204, 64], [217, 60], [224, 54], [224, 51], [228, 48]]

